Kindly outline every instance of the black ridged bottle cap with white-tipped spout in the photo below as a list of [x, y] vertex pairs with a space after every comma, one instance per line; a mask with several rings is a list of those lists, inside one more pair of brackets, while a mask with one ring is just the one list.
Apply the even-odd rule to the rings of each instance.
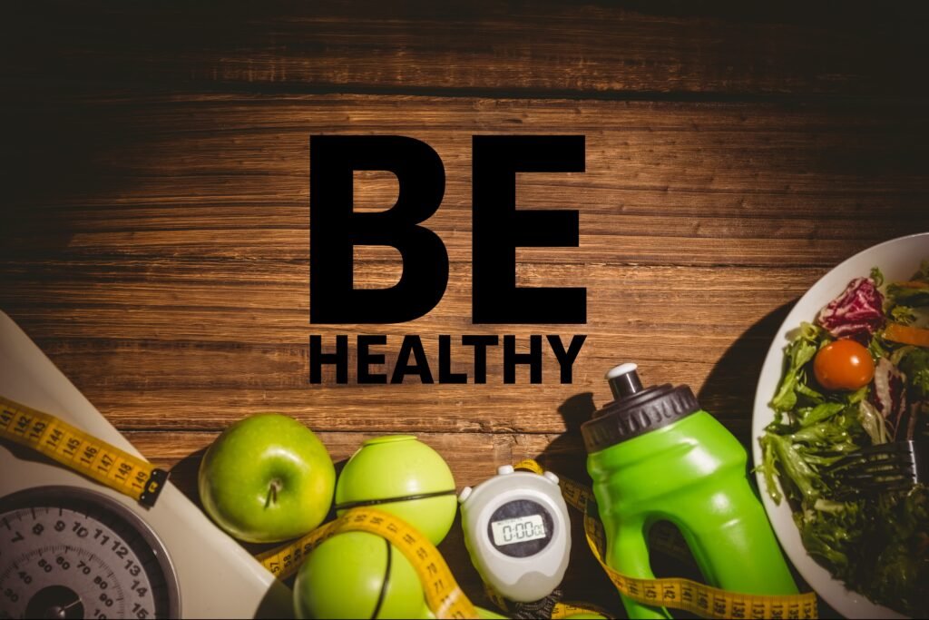
[[670, 383], [643, 389], [635, 363], [623, 363], [607, 373], [609, 389], [616, 399], [581, 425], [588, 453], [668, 426], [700, 410], [700, 403], [687, 386]]

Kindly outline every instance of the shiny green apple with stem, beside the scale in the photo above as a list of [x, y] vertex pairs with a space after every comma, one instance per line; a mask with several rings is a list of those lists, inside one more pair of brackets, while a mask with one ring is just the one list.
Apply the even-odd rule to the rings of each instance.
[[307, 534], [333, 502], [335, 468], [293, 417], [258, 414], [222, 432], [200, 464], [200, 499], [229, 534], [273, 543]]

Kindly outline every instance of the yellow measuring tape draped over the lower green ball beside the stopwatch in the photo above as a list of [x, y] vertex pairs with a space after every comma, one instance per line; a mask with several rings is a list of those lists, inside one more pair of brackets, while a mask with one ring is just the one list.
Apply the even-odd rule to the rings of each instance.
[[423, 584], [425, 602], [437, 618], [478, 618], [478, 610], [464, 595], [438, 549], [398, 517], [376, 508], [351, 508], [344, 515], [313, 530], [295, 543], [257, 556], [280, 579], [294, 574], [315, 547], [335, 534], [368, 532], [386, 538], [412, 564]]

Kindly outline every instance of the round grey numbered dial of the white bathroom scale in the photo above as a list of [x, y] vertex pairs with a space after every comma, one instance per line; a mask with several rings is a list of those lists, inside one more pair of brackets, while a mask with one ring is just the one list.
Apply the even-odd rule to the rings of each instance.
[[0, 499], [0, 618], [171, 618], [178, 603], [164, 547], [122, 504], [68, 486]]

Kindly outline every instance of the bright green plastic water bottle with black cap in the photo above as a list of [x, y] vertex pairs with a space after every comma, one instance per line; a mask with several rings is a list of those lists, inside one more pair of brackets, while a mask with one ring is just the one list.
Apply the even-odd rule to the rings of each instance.
[[[635, 363], [607, 374], [616, 399], [582, 425], [587, 471], [607, 534], [606, 561], [653, 579], [648, 530], [670, 521], [708, 584], [743, 594], [796, 594], [790, 569], [746, 471], [739, 441], [687, 386], [642, 388]], [[631, 618], [667, 610], [623, 597]]]

